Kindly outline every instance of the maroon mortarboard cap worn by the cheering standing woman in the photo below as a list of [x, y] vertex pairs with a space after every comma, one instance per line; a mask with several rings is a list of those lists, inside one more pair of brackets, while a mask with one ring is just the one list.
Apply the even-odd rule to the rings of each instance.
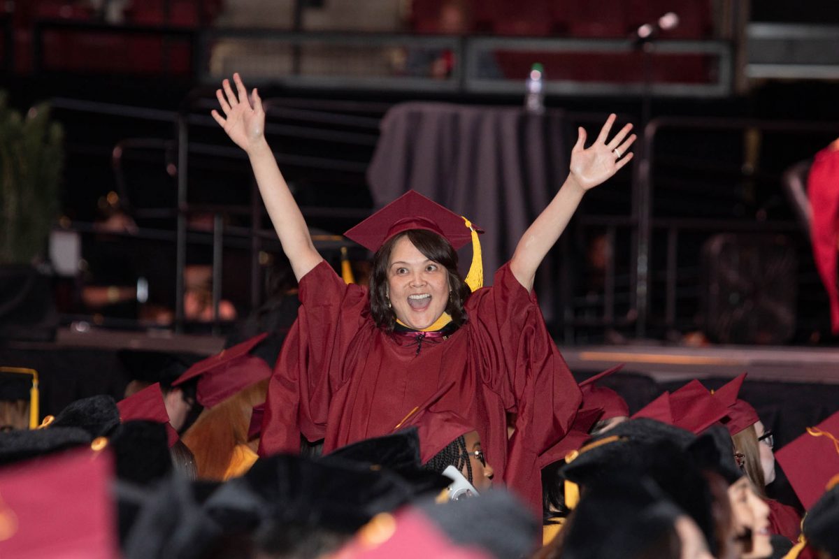
[[[472, 230], [460, 215], [413, 190], [399, 196], [344, 236], [375, 252], [390, 237], [412, 229], [432, 231], [444, 237], [455, 249], [472, 241]], [[472, 229], [483, 232], [475, 224]]]

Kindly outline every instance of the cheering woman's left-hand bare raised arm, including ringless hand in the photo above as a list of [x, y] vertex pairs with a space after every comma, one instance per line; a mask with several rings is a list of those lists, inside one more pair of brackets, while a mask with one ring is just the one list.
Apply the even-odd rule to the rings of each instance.
[[242, 78], [233, 74], [233, 81], [236, 84], [235, 92], [230, 86], [230, 80], [221, 82], [224, 91], [216, 90], [224, 116], [214, 109], [212, 117], [224, 128], [227, 136], [248, 153], [271, 223], [283, 245], [285, 256], [291, 262], [294, 277], [300, 280], [323, 258], [312, 243], [309, 227], [265, 140], [265, 111], [259, 94], [254, 89], [248, 98]]

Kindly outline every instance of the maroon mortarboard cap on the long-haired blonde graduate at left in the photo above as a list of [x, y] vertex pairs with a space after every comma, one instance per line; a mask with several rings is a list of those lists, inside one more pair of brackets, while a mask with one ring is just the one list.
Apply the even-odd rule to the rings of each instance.
[[252, 385], [259, 380], [271, 376], [271, 368], [265, 360], [250, 355], [259, 342], [268, 333], [248, 339], [241, 344], [222, 349], [221, 353], [213, 355], [192, 365], [183, 375], [180, 375], [172, 386], [179, 386], [187, 380], [198, 378], [195, 399], [201, 406], [215, 406], [227, 400], [242, 388]]

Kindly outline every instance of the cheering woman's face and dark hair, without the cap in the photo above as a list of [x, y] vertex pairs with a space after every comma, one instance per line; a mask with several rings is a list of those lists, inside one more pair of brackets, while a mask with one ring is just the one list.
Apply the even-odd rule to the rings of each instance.
[[397, 319], [409, 328], [426, 329], [443, 313], [460, 325], [469, 293], [457, 271], [457, 252], [429, 230], [399, 233], [373, 257], [370, 310], [388, 331]]

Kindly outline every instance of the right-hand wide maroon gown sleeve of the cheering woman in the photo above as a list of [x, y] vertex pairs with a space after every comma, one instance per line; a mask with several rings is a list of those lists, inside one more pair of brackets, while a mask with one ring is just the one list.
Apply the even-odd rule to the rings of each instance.
[[466, 306], [482, 360], [482, 381], [516, 414], [504, 480], [529, 502], [541, 502], [540, 457], [565, 433], [582, 399], [550, 337], [534, 293], [510, 271], [475, 292]]

